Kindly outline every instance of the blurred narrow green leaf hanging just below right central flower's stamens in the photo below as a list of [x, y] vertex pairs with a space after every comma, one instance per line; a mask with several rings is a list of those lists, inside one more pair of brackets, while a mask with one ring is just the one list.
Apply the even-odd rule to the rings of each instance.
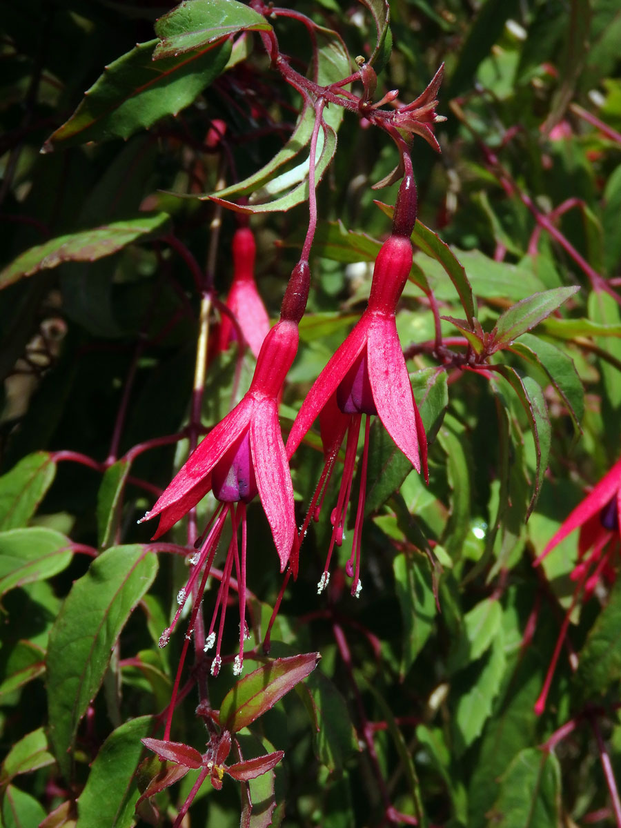
[[422, 556], [397, 555], [392, 561], [395, 591], [402, 618], [402, 657], [399, 675], [403, 679], [425, 646], [436, 623], [436, 599], [429, 567]]

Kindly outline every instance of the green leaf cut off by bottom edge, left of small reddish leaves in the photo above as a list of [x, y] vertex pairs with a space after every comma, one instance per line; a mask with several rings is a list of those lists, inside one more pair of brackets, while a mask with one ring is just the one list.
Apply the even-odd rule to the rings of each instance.
[[143, 751], [140, 740], [152, 729], [152, 716], [139, 716], [108, 736], [79, 795], [76, 828], [130, 828], [135, 824], [134, 808], [139, 796], [135, 774]]

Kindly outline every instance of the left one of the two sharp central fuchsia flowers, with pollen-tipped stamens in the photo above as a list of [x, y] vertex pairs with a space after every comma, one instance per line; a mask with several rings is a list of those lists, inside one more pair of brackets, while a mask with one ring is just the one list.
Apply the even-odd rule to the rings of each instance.
[[[155, 539], [181, 520], [181, 517], [184, 517], [209, 491], [213, 491], [215, 498], [220, 502], [203, 536], [196, 542], [198, 551], [191, 561], [193, 569], [190, 578], [178, 595], [180, 607], [171, 626], [161, 636], [160, 646], [164, 647], [202, 571], [202, 580], [195, 596], [195, 608], [198, 608], [224, 520], [228, 514], [231, 516], [233, 537], [205, 645], [205, 649], [208, 649], [215, 643], [214, 628], [220, 609], [217, 647], [211, 666], [213, 675], [218, 674], [221, 664], [220, 644], [233, 564], [238, 579], [240, 614], [239, 653], [235, 658], [233, 672], [238, 675], [242, 670], [243, 641], [247, 630], [246, 504], [258, 493], [272, 528], [281, 571], [286, 566], [296, 536], [293, 487], [278, 422], [277, 400], [286, 373], [296, 356], [297, 345], [298, 329], [295, 321], [281, 320], [269, 331], [262, 344], [253, 381], [243, 400], [209, 431], [205, 440], [192, 452], [183, 468], [161, 494], [152, 510], [142, 518], [151, 520], [159, 515], [160, 522], [153, 536]], [[240, 526], [242, 542], [241, 548], [238, 548], [237, 536]], [[190, 628], [194, 618], [195, 614], [190, 621]]]

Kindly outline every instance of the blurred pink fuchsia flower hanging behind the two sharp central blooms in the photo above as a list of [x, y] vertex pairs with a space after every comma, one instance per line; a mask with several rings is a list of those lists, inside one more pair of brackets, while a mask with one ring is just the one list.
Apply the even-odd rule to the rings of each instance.
[[[253, 231], [248, 227], [238, 228], [233, 235], [233, 282], [224, 304], [237, 320], [250, 350], [258, 358], [263, 339], [270, 330], [270, 320], [254, 281], [256, 252]], [[236, 338], [232, 320], [223, 315], [219, 328], [219, 350], [225, 351]]]

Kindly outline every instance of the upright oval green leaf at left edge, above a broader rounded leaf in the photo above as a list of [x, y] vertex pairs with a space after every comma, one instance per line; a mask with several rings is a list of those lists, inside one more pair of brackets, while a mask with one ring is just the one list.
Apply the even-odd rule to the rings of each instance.
[[50, 488], [56, 465], [46, 451], [27, 455], [0, 477], [0, 529], [26, 526]]

